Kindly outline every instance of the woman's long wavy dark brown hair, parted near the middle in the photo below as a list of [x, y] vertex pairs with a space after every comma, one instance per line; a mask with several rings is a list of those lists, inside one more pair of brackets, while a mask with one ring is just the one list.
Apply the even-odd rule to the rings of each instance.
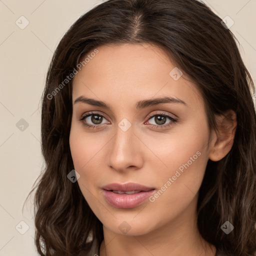
[[[85, 243], [90, 230], [100, 245], [102, 223], [77, 182], [67, 178], [74, 166], [69, 148], [72, 79], [65, 79], [80, 58], [97, 46], [143, 42], [163, 48], [198, 85], [210, 128], [217, 130], [214, 114], [228, 109], [236, 113], [231, 150], [217, 162], [208, 160], [197, 220], [200, 234], [218, 252], [251, 256], [256, 250], [256, 116], [250, 93], [255, 88], [234, 35], [197, 0], [108, 0], [78, 18], [60, 40], [42, 95], [45, 168], [32, 189], [36, 188], [37, 251], [50, 256], [81, 255], [92, 246]], [[234, 226], [229, 234], [220, 228], [225, 221]]]

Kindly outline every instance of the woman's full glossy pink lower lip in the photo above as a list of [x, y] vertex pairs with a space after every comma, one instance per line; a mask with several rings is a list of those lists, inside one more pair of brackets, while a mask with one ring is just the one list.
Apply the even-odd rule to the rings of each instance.
[[116, 208], [133, 208], [148, 198], [154, 189], [149, 191], [141, 191], [134, 194], [117, 194], [112, 191], [103, 189], [106, 201]]

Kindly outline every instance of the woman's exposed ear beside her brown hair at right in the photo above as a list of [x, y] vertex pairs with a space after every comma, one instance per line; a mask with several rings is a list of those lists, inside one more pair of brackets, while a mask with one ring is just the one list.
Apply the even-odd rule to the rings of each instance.
[[224, 115], [215, 115], [217, 132], [211, 131], [211, 142], [209, 147], [209, 159], [218, 161], [222, 159], [231, 149], [236, 130], [236, 114], [233, 110], [227, 110]]

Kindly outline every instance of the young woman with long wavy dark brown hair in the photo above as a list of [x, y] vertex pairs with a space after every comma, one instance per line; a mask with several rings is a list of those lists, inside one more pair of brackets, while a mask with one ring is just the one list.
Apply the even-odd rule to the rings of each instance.
[[43, 93], [39, 254], [253, 255], [253, 90], [200, 1], [108, 0], [82, 15]]

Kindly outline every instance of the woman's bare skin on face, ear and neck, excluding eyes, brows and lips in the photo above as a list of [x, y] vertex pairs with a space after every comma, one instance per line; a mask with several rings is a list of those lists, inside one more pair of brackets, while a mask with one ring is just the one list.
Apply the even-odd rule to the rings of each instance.
[[[216, 116], [228, 128], [219, 134], [209, 130], [196, 84], [184, 73], [177, 80], [169, 75], [175, 64], [162, 49], [146, 43], [97, 49], [73, 80], [69, 143], [74, 168], [80, 174], [79, 187], [103, 224], [99, 256], [215, 255], [216, 248], [197, 229], [198, 190], [208, 159], [220, 160], [231, 149], [236, 120]], [[102, 100], [111, 109], [74, 103], [81, 95]], [[181, 99], [186, 105], [171, 102], [135, 108], [139, 100], [164, 96]], [[100, 124], [93, 116], [86, 118], [98, 129], [79, 121], [89, 111], [103, 115]], [[177, 121], [166, 118], [159, 124], [154, 116], [148, 117], [161, 112]], [[232, 111], [227, 114], [235, 119]], [[118, 126], [123, 118], [131, 124], [126, 131]], [[153, 202], [145, 200], [125, 209], [104, 199], [101, 187], [112, 182], [136, 182], [158, 191], [197, 151], [200, 156]], [[127, 233], [118, 228], [123, 221], [130, 227]]]

